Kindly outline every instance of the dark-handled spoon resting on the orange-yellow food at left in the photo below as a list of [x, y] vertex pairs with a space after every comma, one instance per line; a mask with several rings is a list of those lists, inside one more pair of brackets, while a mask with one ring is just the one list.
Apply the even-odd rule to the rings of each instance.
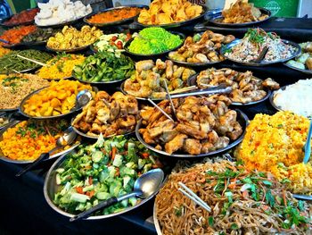
[[77, 137], [77, 133], [72, 129], [72, 127], [69, 127], [67, 130], [65, 130], [64, 134], [62, 137], [58, 138], [56, 141], [56, 147], [53, 147], [49, 152], [41, 154], [33, 163], [29, 164], [26, 166], [24, 169], [21, 170], [21, 172], [18, 172], [15, 176], [20, 177], [26, 172], [29, 172], [32, 168], [37, 166], [37, 164], [40, 164], [43, 162], [45, 159], [48, 159], [50, 155], [56, 150], [61, 147], [70, 145], [75, 138]]

